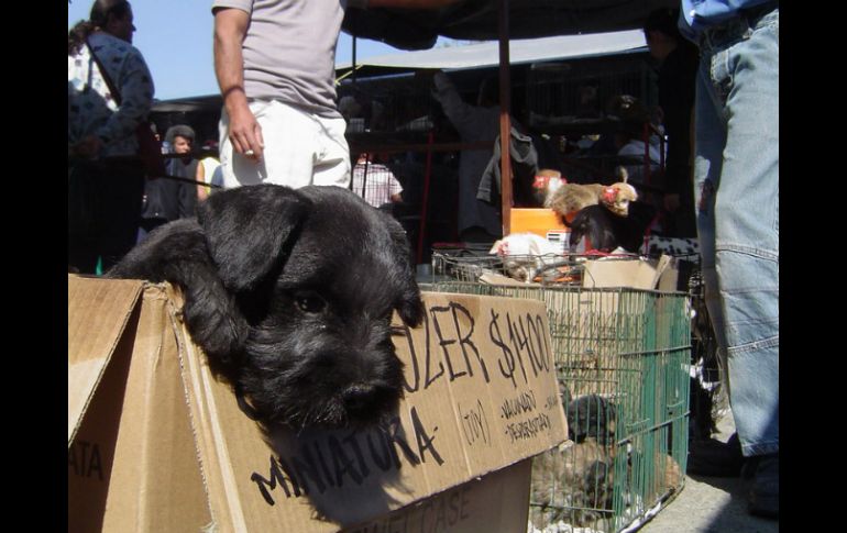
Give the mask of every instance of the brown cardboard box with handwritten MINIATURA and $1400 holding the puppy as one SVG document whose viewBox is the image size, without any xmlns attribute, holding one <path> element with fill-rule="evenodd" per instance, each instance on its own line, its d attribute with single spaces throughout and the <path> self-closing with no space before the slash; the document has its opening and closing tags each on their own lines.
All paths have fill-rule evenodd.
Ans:
<svg viewBox="0 0 847 533">
<path fill-rule="evenodd" d="M 522 530 L 524 459 L 568 434 L 543 303 L 425 303 L 391 427 L 264 434 L 173 287 L 68 276 L 68 531 Z"/>
</svg>

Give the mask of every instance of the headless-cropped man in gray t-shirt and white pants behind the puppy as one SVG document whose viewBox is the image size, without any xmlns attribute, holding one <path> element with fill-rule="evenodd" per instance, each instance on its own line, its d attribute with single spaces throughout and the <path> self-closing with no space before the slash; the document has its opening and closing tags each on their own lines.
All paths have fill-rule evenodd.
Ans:
<svg viewBox="0 0 847 533">
<path fill-rule="evenodd" d="M 344 10 L 455 1 L 215 0 L 223 186 L 348 187 L 350 148 L 334 88 Z"/>
</svg>

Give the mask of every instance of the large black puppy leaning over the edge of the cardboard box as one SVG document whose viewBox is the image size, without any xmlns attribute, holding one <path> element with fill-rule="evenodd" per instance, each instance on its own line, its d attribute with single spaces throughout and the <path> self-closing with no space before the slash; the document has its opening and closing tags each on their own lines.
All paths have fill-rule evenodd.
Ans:
<svg viewBox="0 0 847 533">
<path fill-rule="evenodd" d="M 413 326 L 424 313 L 402 226 L 339 187 L 241 187 L 197 213 L 107 277 L 178 285 L 191 337 L 261 422 L 387 418 L 403 396 L 392 313 Z"/>
</svg>

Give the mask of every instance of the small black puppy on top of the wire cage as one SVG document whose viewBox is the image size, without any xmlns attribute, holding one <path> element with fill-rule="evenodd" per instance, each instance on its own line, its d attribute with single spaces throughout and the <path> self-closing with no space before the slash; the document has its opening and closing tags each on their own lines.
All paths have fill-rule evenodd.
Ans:
<svg viewBox="0 0 847 533">
<path fill-rule="evenodd" d="M 563 222 L 571 229 L 571 253 L 586 235 L 594 249 L 612 252 L 620 246 L 627 252 L 638 253 L 654 216 L 656 208 L 649 203 L 629 202 L 627 216 L 619 216 L 597 204 L 581 209 L 573 222 Z"/>
</svg>

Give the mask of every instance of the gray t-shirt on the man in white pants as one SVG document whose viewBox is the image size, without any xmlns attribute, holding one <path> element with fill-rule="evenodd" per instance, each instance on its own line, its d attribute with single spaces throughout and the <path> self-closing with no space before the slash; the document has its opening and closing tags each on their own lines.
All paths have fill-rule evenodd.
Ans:
<svg viewBox="0 0 847 533">
<path fill-rule="evenodd" d="M 344 9 L 362 0 L 215 0 L 250 14 L 242 44 L 249 99 L 279 100 L 338 118 L 336 44 Z"/>
</svg>

